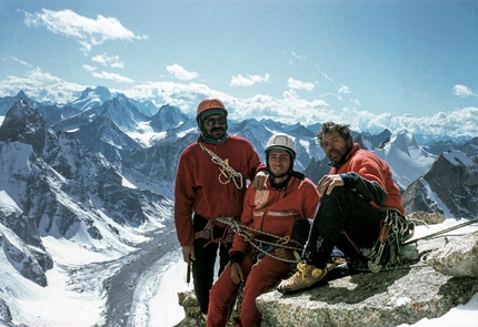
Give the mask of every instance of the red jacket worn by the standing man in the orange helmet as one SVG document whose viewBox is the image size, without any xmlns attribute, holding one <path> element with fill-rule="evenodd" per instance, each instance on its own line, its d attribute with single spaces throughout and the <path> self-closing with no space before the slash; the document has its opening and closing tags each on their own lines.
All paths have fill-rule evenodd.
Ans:
<svg viewBox="0 0 478 327">
<path fill-rule="evenodd" d="M 228 163 L 242 178 L 228 180 L 200 144 Z M 195 242 L 193 212 L 207 219 L 240 216 L 247 181 L 253 180 L 259 164 L 252 144 L 235 135 L 215 145 L 195 142 L 183 150 L 175 185 L 175 224 L 181 246 Z"/>
</svg>

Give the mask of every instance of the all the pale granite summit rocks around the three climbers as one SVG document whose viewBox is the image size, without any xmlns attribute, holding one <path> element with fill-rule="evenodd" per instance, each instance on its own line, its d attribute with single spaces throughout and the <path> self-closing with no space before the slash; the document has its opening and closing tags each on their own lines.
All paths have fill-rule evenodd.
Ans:
<svg viewBox="0 0 478 327">
<path fill-rule="evenodd" d="M 417 249 L 421 260 L 408 267 L 359 272 L 291 295 L 272 289 L 256 302 L 261 327 L 415 324 L 438 318 L 478 293 L 478 232 L 418 241 Z M 187 318 L 178 326 L 195 326 L 191 297 L 179 296 Z"/>
</svg>

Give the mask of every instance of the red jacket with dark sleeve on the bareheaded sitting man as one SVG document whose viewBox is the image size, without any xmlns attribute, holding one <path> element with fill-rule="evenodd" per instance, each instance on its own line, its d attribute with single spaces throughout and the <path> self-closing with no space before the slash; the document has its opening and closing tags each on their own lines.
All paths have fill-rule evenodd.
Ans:
<svg viewBox="0 0 478 327">
<path fill-rule="evenodd" d="M 375 153 L 360 149 L 358 143 L 338 167 L 330 174 L 340 174 L 345 187 L 355 190 L 360 196 L 378 210 L 395 208 L 405 215 L 400 188 L 392 180 L 388 163 Z"/>
</svg>

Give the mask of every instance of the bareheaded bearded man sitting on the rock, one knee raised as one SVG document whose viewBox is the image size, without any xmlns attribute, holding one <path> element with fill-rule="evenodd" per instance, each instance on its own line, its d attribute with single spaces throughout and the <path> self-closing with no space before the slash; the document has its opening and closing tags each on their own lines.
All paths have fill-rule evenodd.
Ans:
<svg viewBox="0 0 478 327">
<path fill-rule="evenodd" d="M 302 253 L 305 263 L 278 286 L 285 294 L 322 280 L 335 246 L 346 257 L 360 257 L 358 249 L 371 248 L 387 211 L 405 214 L 388 164 L 353 144 L 348 125 L 325 123 L 317 139 L 332 168 L 318 183 L 320 204 Z"/>
</svg>

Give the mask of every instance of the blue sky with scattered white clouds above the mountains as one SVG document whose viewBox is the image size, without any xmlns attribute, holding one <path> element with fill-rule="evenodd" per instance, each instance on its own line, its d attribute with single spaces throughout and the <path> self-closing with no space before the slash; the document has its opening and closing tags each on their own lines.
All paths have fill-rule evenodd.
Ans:
<svg viewBox="0 0 478 327">
<path fill-rule="evenodd" d="M 478 134 L 478 1 L 0 0 L 0 96 Z"/>
</svg>

